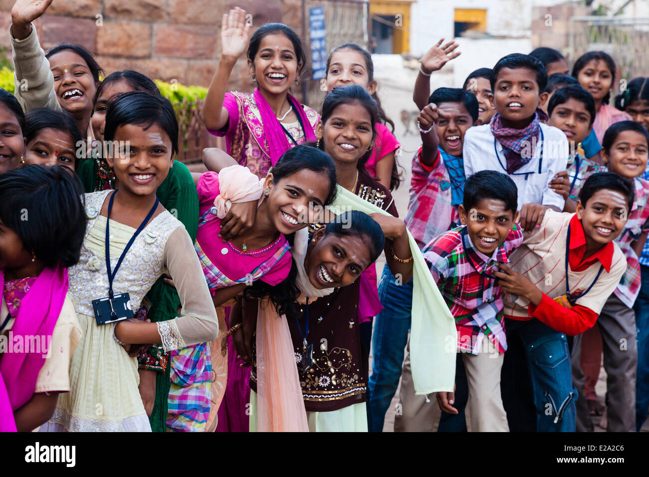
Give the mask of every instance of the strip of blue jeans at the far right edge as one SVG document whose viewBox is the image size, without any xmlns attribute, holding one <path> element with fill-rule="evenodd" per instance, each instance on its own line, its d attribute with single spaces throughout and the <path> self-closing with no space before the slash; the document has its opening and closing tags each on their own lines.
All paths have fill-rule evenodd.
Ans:
<svg viewBox="0 0 649 477">
<path fill-rule="evenodd" d="M 640 265 L 642 285 L 635 300 L 635 332 L 638 341 L 638 367 L 635 377 L 635 430 L 647 420 L 649 414 L 649 267 Z"/>
</svg>

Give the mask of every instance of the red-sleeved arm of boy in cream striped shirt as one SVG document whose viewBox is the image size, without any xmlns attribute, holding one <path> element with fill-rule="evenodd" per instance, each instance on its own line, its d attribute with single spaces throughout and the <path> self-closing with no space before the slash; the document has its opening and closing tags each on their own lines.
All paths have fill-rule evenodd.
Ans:
<svg viewBox="0 0 649 477">
<path fill-rule="evenodd" d="M 575 336 L 592 328 L 598 313 L 582 305 L 572 308 L 561 306 L 539 290 L 527 276 L 520 275 L 508 266 L 498 263 L 502 271 L 494 272 L 502 291 L 519 295 L 530 300 L 528 313 L 530 316 L 547 324 L 559 333 Z"/>
</svg>

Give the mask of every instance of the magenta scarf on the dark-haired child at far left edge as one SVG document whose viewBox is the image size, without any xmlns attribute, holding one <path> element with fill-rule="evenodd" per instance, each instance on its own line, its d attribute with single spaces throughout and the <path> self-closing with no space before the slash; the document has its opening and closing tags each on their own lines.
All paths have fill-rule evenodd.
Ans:
<svg viewBox="0 0 649 477">
<path fill-rule="evenodd" d="M 45 268 L 21 300 L 18 316 L 11 329 L 14 341 L 19 336 L 52 336 L 68 288 L 67 269 Z M 5 287 L 5 274 L 0 270 L 0 290 Z M 23 342 L 25 339 L 23 338 Z M 12 341 L 7 342 L 12 347 Z M 40 350 L 42 351 L 42 350 Z M 0 374 L 6 385 L 8 400 L 12 410 L 17 410 L 27 403 L 36 388 L 36 378 L 45 364 L 43 352 L 14 353 L 5 352 L 0 361 Z M 0 415 L 5 413 L 6 402 L 2 400 L 0 386 Z"/>
</svg>

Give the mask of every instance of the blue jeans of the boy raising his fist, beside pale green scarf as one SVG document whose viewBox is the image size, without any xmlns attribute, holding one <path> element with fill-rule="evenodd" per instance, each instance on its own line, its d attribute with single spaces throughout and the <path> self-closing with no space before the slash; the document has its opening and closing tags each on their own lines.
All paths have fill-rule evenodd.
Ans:
<svg viewBox="0 0 649 477">
<path fill-rule="evenodd" d="M 369 377 L 367 421 L 370 432 L 382 432 L 387 408 L 397 392 L 408 343 L 413 280 L 397 284 L 385 265 L 378 284 L 382 312 L 374 319 L 372 375 Z"/>
</svg>

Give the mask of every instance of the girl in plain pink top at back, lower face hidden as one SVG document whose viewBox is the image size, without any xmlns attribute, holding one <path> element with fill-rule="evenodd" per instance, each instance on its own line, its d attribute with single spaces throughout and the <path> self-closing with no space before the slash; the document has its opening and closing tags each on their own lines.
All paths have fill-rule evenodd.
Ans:
<svg viewBox="0 0 649 477">
<path fill-rule="evenodd" d="M 324 91 L 332 91 L 337 86 L 358 84 L 372 95 L 378 106 L 380 121 L 374 125 L 376 138 L 372 152 L 365 162 L 365 169 L 389 190 L 398 188 L 401 178 L 395 152 L 400 144 L 393 134 L 395 125 L 386 116 L 376 95 L 378 84 L 374 80 L 372 56 L 356 43 L 345 43 L 334 48 L 327 58 L 326 78 L 322 82 Z M 387 125 L 390 125 L 392 130 L 389 130 Z"/>
</svg>

